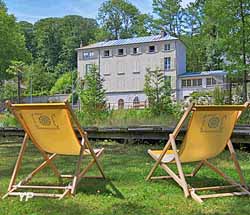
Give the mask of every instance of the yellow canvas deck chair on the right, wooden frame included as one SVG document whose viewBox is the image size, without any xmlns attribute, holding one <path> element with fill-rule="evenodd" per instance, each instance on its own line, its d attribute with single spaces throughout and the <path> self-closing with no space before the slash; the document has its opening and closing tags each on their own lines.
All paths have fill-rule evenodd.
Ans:
<svg viewBox="0 0 250 215">
<path fill-rule="evenodd" d="M 156 161 L 156 163 L 147 176 L 147 180 L 171 178 L 182 187 L 185 197 L 191 196 L 199 203 L 202 203 L 203 199 L 206 198 L 250 195 L 240 165 L 236 159 L 233 145 L 230 141 L 235 123 L 247 106 L 248 103 L 245 103 L 244 105 L 222 106 L 199 106 L 192 104 L 182 116 L 174 132 L 169 135 L 169 140 L 164 149 L 148 150 L 149 155 Z M 187 132 L 180 148 L 177 149 L 175 139 L 189 115 L 191 115 L 191 117 L 187 127 Z M 228 146 L 231 153 L 231 158 L 239 175 L 240 183 L 237 183 L 208 161 L 208 159 L 219 155 L 226 146 Z M 191 174 L 184 175 L 182 164 L 191 162 L 198 162 L 197 167 Z M 172 163 L 177 166 L 178 174 L 167 165 Z M 158 165 L 168 173 L 168 176 L 153 177 L 153 173 Z M 193 188 L 190 184 L 187 184 L 186 176 L 195 176 L 203 165 L 206 165 L 211 170 L 222 176 L 230 185 Z M 237 191 L 206 195 L 197 194 L 197 192 L 201 191 L 215 191 L 227 188 L 235 189 Z"/>
</svg>

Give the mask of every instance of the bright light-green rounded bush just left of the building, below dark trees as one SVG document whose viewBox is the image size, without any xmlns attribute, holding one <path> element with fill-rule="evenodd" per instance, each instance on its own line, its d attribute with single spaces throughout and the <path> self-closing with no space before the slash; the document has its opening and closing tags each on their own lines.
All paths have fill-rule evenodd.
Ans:
<svg viewBox="0 0 250 215">
<path fill-rule="evenodd" d="M 56 93 L 71 93 L 72 73 L 73 73 L 73 83 L 75 83 L 77 77 L 76 71 L 64 73 L 59 79 L 57 79 L 55 85 L 50 90 L 50 94 L 53 95 Z"/>
</svg>

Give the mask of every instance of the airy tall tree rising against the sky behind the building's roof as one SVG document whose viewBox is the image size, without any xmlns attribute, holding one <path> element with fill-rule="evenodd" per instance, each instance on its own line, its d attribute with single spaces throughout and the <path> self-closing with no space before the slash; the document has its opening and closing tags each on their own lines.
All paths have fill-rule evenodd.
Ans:
<svg viewBox="0 0 250 215">
<path fill-rule="evenodd" d="M 98 11 L 98 21 L 104 31 L 108 32 L 108 39 L 129 38 L 138 35 L 137 33 L 145 34 L 147 29 L 144 25 L 147 25 L 148 18 L 149 16 L 141 14 L 127 0 L 107 0 Z"/>
</svg>

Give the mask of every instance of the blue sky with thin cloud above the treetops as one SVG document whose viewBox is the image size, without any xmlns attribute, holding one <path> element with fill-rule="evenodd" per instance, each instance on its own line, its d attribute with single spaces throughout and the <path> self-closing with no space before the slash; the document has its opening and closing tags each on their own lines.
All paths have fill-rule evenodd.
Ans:
<svg viewBox="0 0 250 215">
<path fill-rule="evenodd" d="M 9 13 L 15 14 L 18 21 L 34 23 L 46 17 L 62 17 L 69 14 L 95 18 L 99 6 L 105 0 L 4 0 Z M 194 0 L 182 0 L 183 6 Z M 130 0 L 142 13 L 152 11 L 152 0 Z"/>
</svg>

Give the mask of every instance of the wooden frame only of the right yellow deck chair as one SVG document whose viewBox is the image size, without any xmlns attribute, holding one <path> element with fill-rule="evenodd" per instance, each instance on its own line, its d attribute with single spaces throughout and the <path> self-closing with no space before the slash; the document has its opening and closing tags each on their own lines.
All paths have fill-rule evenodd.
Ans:
<svg viewBox="0 0 250 215">
<path fill-rule="evenodd" d="M 248 103 L 246 102 L 244 104 L 245 108 L 248 107 Z M 176 147 L 176 137 L 178 133 L 180 132 L 181 127 L 183 126 L 185 120 L 189 116 L 189 114 L 193 111 L 195 111 L 195 105 L 192 104 L 189 106 L 189 108 L 186 110 L 184 115 L 182 116 L 181 120 L 177 124 L 174 132 L 169 135 L 169 140 L 167 141 L 167 144 L 165 145 L 164 149 L 162 150 L 162 153 L 160 154 L 159 157 L 156 157 L 152 152 L 149 150 L 149 154 L 151 157 L 156 161 L 153 168 L 149 172 L 146 180 L 154 180 L 154 179 L 173 179 L 177 184 L 180 185 L 180 187 L 183 189 L 185 197 L 191 196 L 194 200 L 196 200 L 199 203 L 203 202 L 203 199 L 207 198 L 215 198 L 215 197 L 224 197 L 224 196 L 240 196 L 240 195 L 250 195 L 250 192 L 248 190 L 248 187 L 246 185 L 245 178 L 242 174 L 239 162 L 236 158 L 236 153 L 233 147 L 233 144 L 231 140 L 228 141 L 227 146 L 229 148 L 231 158 L 234 162 L 234 167 L 237 171 L 237 174 L 240 179 L 240 183 L 236 182 L 229 176 L 227 176 L 225 173 L 223 173 L 220 169 L 218 169 L 216 166 L 214 166 L 212 163 L 210 163 L 208 160 L 202 160 L 198 163 L 198 165 L 195 167 L 195 169 L 192 171 L 191 174 L 184 174 L 183 168 L 182 168 L 182 163 L 179 158 L 178 150 Z M 242 111 L 239 112 L 237 118 L 240 117 Z M 169 168 L 169 166 L 162 162 L 162 159 L 164 158 L 164 155 L 166 152 L 172 148 L 174 152 L 174 160 L 175 164 L 177 166 L 178 174 L 176 174 L 172 169 Z M 156 168 L 160 165 L 160 167 L 168 174 L 167 176 L 158 176 L 158 177 L 153 177 L 153 174 L 156 170 Z M 186 177 L 193 177 L 195 176 L 198 171 L 201 169 L 202 166 L 206 165 L 209 167 L 211 170 L 213 170 L 215 173 L 218 175 L 222 176 L 230 185 L 227 186 L 213 186 L 213 187 L 200 187 L 200 188 L 194 188 L 190 184 L 187 183 Z M 223 190 L 223 189 L 228 189 L 228 188 L 236 188 L 238 191 L 235 192 L 227 192 L 227 193 L 216 193 L 216 194 L 207 194 L 207 195 L 198 195 L 196 191 L 208 191 L 208 190 Z"/>
</svg>

